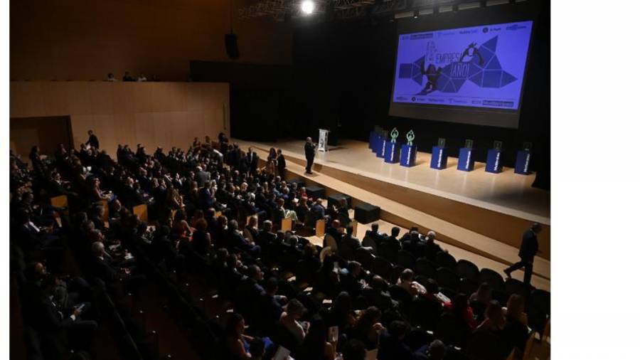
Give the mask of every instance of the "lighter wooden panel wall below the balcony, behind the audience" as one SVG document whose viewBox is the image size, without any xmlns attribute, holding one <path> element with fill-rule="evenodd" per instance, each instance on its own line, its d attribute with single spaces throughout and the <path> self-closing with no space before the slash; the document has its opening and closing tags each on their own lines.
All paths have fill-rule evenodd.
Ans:
<svg viewBox="0 0 640 360">
<path fill-rule="evenodd" d="M 10 86 L 11 117 L 69 115 L 76 147 L 92 129 L 112 156 L 117 144 L 133 149 L 144 144 L 149 153 L 230 132 L 227 83 L 12 81 Z"/>
</svg>

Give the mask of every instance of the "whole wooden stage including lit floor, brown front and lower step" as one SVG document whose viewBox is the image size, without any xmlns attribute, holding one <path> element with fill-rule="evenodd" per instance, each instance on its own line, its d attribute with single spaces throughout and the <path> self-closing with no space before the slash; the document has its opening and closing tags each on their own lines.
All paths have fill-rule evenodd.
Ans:
<svg viewBox="0 0 640 360">
<path fill-rule="evenodd" d="M 326 188 L 327 194 L 352 196 L 354 203 L 380 206 L 380 218 L 403 228 L 434 230 L 438 239 L 498 263 L 519 260 L 523 231 L 532 221 L 543 224 L 540 256 L 534 273 L 550 280 L 550 221 L 547 191 L 530 187 L 535 175 L 501 174 L 456 169 L 449 158 L 447 169 L 430 169 L 430 154 L 419 152 L 417 166 L 387 164 L 375 157 L 366 142 L 346 140 L 329 152 L 316 154 L 314 174 L 304 174 L 304 141 L 246 142 L 233 139 L 244 150 L 253 147 L 265 159 L 271 147 L 282 149 L 287 159 L 286 179 Z"/>
</svg>

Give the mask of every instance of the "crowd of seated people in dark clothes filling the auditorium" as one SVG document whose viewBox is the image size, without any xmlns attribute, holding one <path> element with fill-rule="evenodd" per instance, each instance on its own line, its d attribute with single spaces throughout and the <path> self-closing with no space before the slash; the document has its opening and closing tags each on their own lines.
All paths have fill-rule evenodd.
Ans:
<svg viewBox="0 0 640 360">
<path fill-rule="evenodd" d="M 441 322 L 453 319 L 459 330 L 457 339 L 442 337 L 447 345 L 464 349 L 475 330 L 496 334 L 509 350 L 524 349 L 524 297 L 511 295 L 503 309 L 486 283 L 469 299 L 457 295 L 451 301 L 435 280 L 415 276 L 414 269 L 378 275 L 361 258 L 374 255 L 353 235 L 346 200 L 327 211 L 321 198 L 310 199 L 304 187 L 282 181 L 285 165 L 279 149 L 270 152 L 261 169 L 256 152 L 245 154 L 220 134 L 218 149 L 208 137 L 194 139 L 189 149 L 174 147 L 166 153 L 158 148 L 146 154 L 142 144 L 134 152 L 122 145 L 113 160 L 98 150 L 91 131 L 89 135 L 80 151 L 58 147 L 53 163 L 44 162 L 34 147 L 32 171 L 11 158 L 11 243 L 30 260 L 22 271 L 21 301 L 38 309 L 25 322 L 42 334 L 63 332 L 90 350 L 92 342 L 86 339 L 102 326 L 94 315 L 95 284 L 103 282 L 118 301 L 125 294 L 138 297 L 148 282 L 139 257 L 148 257 L 166 271 L 167 279 L 202 278 L 233 305 L 234 311 L 219 320 L 226 323 L 220 346 L 236 359 L 270 359 L 274 346 L 269 337 L 278 327 L 294 340 L 289 350 L 296 359 L 335 359 L 338 353 L 345 360 L 364 359 L 372 349 L 378 349 L 378 359 L 444 359 L 447 346 L 442 341 L 419 346 L 409 341 L 417 329 L 412 304 L 425 300 L 444 310 Z M 33 191 L 34 182 L 47 197 Z M 68 196 L 68 208 L 34 208 L 57 195 Z M 150 226 L 131 211 L 143 203 Z M 103 217 L 107 209 L 109 216 Z M 58 218 L 67 221 L 65 211 L 73 215 L 71 235 L 56 223 Z M 323 251 L 320 257 L 321 248 L 300 233 L 276 231 L 278 218 L 307 216 L 330 224 L 326 234 L 336 240 L 338 252 Z M 395 254 L 404 249 L 434 260 L 442 251 L 433 231 L 423 238 L 413 228 L 400 238 L 400 228 L 385 235 L 374 223 L 366 236 Z M 43 261 L 55 267 L 71 238 L 82 277 L 50 274 Z M 409 296 L 396 299 L 397 287 Z M 437 322 L 430 328 L 437 329 Z M 251 337 L 245 334 L 247 324 Z M 335 339 L 329 337 L 331 327 L 338 329 Z"/>
</svg>

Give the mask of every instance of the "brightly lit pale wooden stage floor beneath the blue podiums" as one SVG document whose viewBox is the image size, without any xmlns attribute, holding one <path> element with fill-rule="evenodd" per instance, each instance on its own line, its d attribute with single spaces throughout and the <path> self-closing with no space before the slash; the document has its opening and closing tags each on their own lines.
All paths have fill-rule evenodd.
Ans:
<svg viewBox="0 0 640 360">
<path fill-rule="evenodd" d="M 304 158 L 304 141 L 281 140 L 260 142 L 262 147 L 282 149 L 285 155 Z M 315 163 L 351 171 L 361 176 L 405 186 L 428 194 L 470 203 L 511 216 L 550 224 L 550 193 L 531 187 L 535 174 L 514 174 L 504 168 L 500 174 L 484 171 L 484 163 L 476 162 L 474 171 L 458 171 L 457 158 L 449 156 L 447 169 L 429 167 L 431 154 L 418 152 L 416 166 L 407 168 L 387 164 L 375 157 L 366 142 L 342 140 L 329 152 L 318 152 Z"/>
</svg>

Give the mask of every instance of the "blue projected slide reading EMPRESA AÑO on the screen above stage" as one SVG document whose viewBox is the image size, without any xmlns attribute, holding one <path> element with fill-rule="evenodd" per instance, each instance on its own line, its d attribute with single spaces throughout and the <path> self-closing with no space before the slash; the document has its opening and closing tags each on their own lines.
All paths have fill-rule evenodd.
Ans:
<svg viewBox="0 0 640 360">
<path fill-rule="evenodd" d="M 518 110 L 532 26 L 400 34 L 393 102 Z"/>
</svg>

